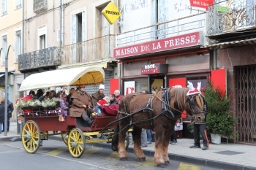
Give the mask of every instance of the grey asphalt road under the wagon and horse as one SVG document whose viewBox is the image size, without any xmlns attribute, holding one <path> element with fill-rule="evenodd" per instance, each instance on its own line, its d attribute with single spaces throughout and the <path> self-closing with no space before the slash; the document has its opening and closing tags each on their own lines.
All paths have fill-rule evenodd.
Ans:
<svg viewBox="0 0 256 170">
<path fill-rule="evenodd" d="M 97 147 L 95 144 L 86 144 L 86 150 L 80 158 L 72 158 L 68 147 L 59 140 L 43 141 L 34 154 L 23 149 L 20 141 L 0 142 L 0 169 L 19 170 L 51 170 L 51 169 L 178 169 L 178 170 L 213 170 L 210 167 L 197 166 L 178 161 L 170 161 L 166 168 L 156 166 L 152 157 L 146 157 L 146 162 L 137 161 L 135 154 L 128 153 L 129 161 L 119 161 L 118 152 L 110 147 Z"/>
</svg>

